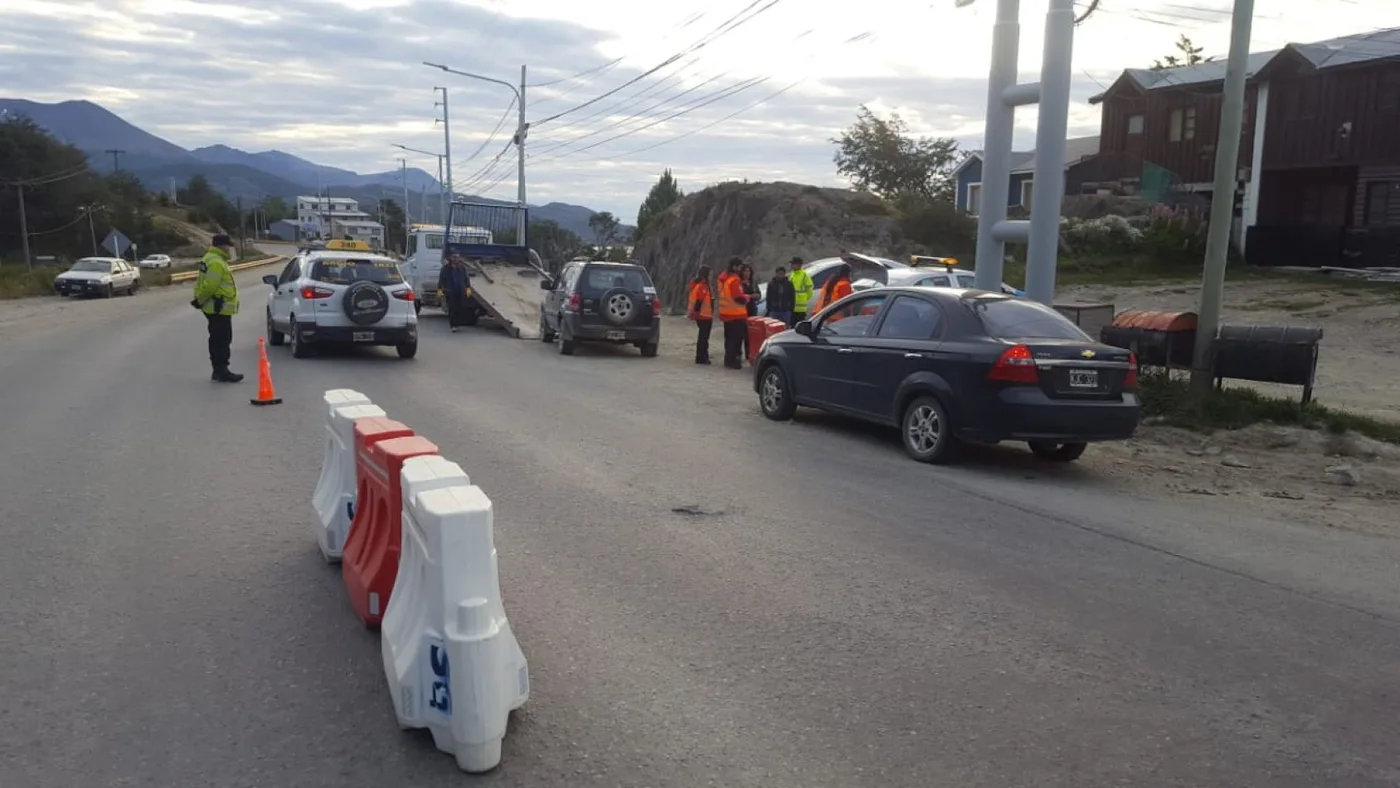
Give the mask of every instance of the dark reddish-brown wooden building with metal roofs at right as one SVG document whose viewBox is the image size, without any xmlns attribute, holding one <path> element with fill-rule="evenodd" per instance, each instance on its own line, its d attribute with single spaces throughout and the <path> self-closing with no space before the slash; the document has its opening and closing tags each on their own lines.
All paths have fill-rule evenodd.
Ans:
<svg viewBox="0 0 1400 788">
<path fill-rule="evenodd" d="M 1130 69 L 1102 102 L 1099 188 L 1211 196 L 1225 63 Z M 1400 266 L 1400 28 L 1250 56 L 1236 241 L 1260 265 Z"/>
</svg>

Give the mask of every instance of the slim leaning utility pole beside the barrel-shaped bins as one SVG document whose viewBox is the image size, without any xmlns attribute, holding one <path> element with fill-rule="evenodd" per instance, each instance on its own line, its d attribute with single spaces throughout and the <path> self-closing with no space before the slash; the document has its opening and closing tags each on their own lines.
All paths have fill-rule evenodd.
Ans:
<svg viewBox="0 0 1400 788">
<path fill-rule="evenodd" d="M 1215 185 L 1211 190 L 1211 224 L 1205 235 L 1205 270 L 1201 276 L 1201 302 L 1196 311 L 1196 353 L 1191 356 L 1191 397 L 1197 407 L 1204 407 L 1205 397 L 1211 393 L 1211 349 L 1219 332 L 1225 293 L 1225 260 L 1229 255 L 1231 220 L 1235 216 L 1239 136 L 1245 127 L 1245 77 L 1253 20 L 1254 0 L 1235 0 L 1221 130 L 1215 141 Z"/>
</svg>

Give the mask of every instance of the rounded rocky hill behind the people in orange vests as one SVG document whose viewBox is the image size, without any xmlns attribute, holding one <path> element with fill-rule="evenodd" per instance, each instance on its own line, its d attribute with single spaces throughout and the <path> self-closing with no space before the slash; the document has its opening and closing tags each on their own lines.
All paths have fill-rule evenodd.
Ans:
<svg viewBox="0 0 1400 788">
<path fill-rule="evenodd" d="M 647 228 L 634 256 L 651 272 L 666 307 L 676 309 L 704 263 L 718 273 L 738 256 L 767 279 L 792 256 L 815 260 L 840 252 L 896 256 L 918 251 L 878 197 L 777 182 L 721 183 L 687 195 Z"/>
</svg>

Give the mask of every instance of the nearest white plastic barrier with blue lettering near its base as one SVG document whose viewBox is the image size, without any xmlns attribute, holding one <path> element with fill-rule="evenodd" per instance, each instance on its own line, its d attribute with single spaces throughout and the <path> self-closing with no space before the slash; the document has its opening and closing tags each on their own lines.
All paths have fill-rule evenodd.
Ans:
<svg viewBox="0 0 1400 788">
<path fill-rule="evenodd" d="M 463 771 L 501 763 L 529 666 L 505 620 L 491 500 L 441 456 L 403 463 L 403 550 L 381 624 L 399 726 L 427 728 Z"/>
</svg>

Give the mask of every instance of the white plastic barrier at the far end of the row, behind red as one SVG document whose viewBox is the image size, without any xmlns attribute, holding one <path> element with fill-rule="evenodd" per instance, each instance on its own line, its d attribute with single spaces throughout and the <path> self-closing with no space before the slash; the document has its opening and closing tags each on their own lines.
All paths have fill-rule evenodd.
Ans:
<svg viewBox="0 0 1400 788">
<path fill-rule="evenodd" d="M 336 396 L 332 396 L 336 395 Z M 361 402 L 335 402 L 358 396 Z M 316 544 L 326 561 L 340 560 L 350 533 L 356 493 L 354 423 L 371 416 L 385 416 L 384 409 L 370 404 L 368 397 L 349 389 L 325 393 L 326 449 L 321 460 L 321 480 L 311 494 L 311 508 L 316 511 Z"/>
</svg>

